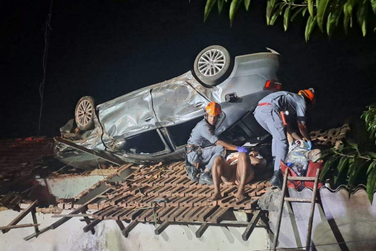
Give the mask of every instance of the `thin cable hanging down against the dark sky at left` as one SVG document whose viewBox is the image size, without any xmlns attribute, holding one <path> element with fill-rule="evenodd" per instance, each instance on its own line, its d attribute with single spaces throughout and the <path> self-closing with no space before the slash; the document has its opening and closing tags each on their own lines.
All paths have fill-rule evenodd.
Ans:
<svg viewBox="0 0 376 251">
<path fill-rule="evenodd" d="M 47 19 L 45 21 L 44 27 L 43 27 L 43 37 L 44 37 L 44 53 L 43 53 L 43 76 L 42 76 L 42 82 L 39 85 L 39 96 L 41 96 L 41 108 L 39 110 L 39 123 L 38 123 L 38 136 L 41 132 L 41 119 L 42 119 L 42 108 L 43 108 L 43 93 L 44 93 L 44 84 L 46 79 L 46 67 L 47 67 L 47 52 L 48 52 L 48 43 L 49 43 L 49 37 L 50 37 L 50 22 L 51 22 L 51 16 L 52 16 L 52 0 L 50 3 L 50 13 L 47 15 Z"/>
</svg>

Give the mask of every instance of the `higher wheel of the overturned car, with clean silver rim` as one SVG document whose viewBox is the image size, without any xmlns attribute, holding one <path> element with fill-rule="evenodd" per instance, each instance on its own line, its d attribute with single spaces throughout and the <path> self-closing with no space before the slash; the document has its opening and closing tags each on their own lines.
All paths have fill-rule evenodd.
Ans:
<svg viewBox="0 0 376 251">
<path fill-rule="evenodd" d="M 226 79 L 233 66 L 230 53 L 223 46 L 213 45 L 203 49 L 194 61 L 193 70 L 197 78 L 209 87 Z"/>
</svg>

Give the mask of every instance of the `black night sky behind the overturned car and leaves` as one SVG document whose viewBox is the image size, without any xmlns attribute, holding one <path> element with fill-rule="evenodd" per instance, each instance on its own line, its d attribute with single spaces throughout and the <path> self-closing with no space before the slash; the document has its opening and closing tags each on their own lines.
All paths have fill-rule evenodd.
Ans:
<svg viewBox="0 0 376 251">
<path fill-rule="evenodd" d="M 205 2 L 54 1 L 40 135 L 59 135 L 81 96 L 94 96 L 98 104 L 173 78 L 192 69 L 197 53 L 213 44 L 232 55 L 265 52 L 265 47 L 279 52 L 285 89 L 315 88 L 316 125 L 359 117 L 375 102 L 373 28 L 365 38 L 358 27 L 346 36 L 340 20 L 331 40 L 316 27 L 306 44 L 301 15 L 284 32 L 281 18 L 266 25 L 266 1 L 254 1 L 248 12 L 241 6 L 230 27 L 229 5 L 203 23 Z M 38 134 L 49 6 L 50 1 L 2 5 L 1 138 Z"/>
</svg>

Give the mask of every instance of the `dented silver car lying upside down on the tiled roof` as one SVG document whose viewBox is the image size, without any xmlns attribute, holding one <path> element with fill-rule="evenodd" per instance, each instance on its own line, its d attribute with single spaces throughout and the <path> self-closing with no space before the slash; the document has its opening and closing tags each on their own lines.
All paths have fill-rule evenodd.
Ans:
<svg viewBox="0 0 376 251">
<path fill-rule="evenodd" d="M 255 53 L 231 58 L 224 47 L 202 50 L 194 70 L 96 105 L 90 96 L 77 103 L 75 121 L 61 128 L 63 138 L 85 149 L 125 162 L 178 160 L 191 130 L 210 101 L 223 113 L 215 134 L 241 144 L 267 134 L 253 117 L 258 101 L 280 90 L 279 54 Z M 74 126 L 74 122 L 77 128 Z M 72 166 L 97 166 L 99 159 L 57 143 L 56 157 Z"/>
</svg>

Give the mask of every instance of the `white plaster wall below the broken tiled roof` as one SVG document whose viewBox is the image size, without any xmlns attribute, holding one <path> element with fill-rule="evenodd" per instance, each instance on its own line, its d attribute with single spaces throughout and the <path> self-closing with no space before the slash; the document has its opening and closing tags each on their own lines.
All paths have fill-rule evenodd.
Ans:
<svg viewBox="0 0 376 251">
<path fill-rule="evenodd" d="M 70 210 L 63 211 L 63 214 Z M 6 210 L 0 212 L 0 225 L 7 225 L 18 212 Z M 47 227 L 59 218 L 52 214 L 37 213 L 39 229 Z M 152 224 L 138 224 L 125 238 L 113 220 L 100 222 L 94 229 L 96 233 L 83 233 L 86 223 L 82 218 L 72 218 L 55 230 L 25 241 L 23 237 L 33 233 L 34 228 L 19 228 L 6 234 L 0 233 L 1 251 L 172 251 L 172 250 L 236 250 L 252 251 L 268 249 L 268 234 L 265 228 L 256 227 L 247 241 L 241 239 L 245 227 L 210 226 L 201 238 L 195 232 L 199 225 L 170 225 L 159 236 L 154 234 Z M 18 224 L 32 223 L 31 214 Z M 127 223 L 124 222 L 124 226 Z"/>
</svg>

